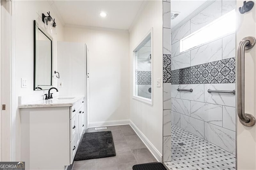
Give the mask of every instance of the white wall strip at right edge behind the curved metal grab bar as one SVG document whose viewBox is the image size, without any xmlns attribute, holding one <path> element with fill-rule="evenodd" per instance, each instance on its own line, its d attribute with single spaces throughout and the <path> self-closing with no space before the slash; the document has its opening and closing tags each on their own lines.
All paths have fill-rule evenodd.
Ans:
<svg viewBox="0 0 256 170">
<path fill-rule="evenodd" d="M 255 1 L 254 1 L 255 3 Z M 256 4 L 249 12 L 240 14 L 239 7 L 243 1 L 237 1 L 237 27 L 236 47 L 239 42 L 247 37 L 256 37 Z M 238 68 L 238 53 L 236 53 L 236 69 Z M 245 51 L 245 113 L 256 117 L 256 45 Z M 237 72 L 236 72 L 237 75 Z M 238 92 L 238 77 L 236 77 L 236 92 Z M 239 95 L 237 94 L 237 99 Z M 236 108 L 238 107 L 238 103 Z M 237 117 L 237 169 L 256 170 L 256 125 L 246 127 L 242 125 Z"/>
</svg>

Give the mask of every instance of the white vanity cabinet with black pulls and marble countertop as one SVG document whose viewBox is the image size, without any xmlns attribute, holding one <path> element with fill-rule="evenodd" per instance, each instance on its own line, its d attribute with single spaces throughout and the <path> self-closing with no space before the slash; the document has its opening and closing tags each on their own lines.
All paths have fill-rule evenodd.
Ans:
<svg viewBox="0 0 256 170">
<path fill-rule="evenodd" d="M 57 100 L 20 105 L 21 160 L 26 169 L 64 169 L 73 163 L 86 127 L 84 97 Z"/>
</svg>

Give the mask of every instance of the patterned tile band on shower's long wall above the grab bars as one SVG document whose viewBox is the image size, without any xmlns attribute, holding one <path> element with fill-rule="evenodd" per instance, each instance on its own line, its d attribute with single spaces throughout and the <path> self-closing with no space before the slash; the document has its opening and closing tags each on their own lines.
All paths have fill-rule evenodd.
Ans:
<svg viewBox="0 0 256 170">
<path fill-rule="evenodd" d="M 167 75 L 164 71 L 164 81 L 169 81 Z M 235 83 L 235 57 L 173 70 L 170 79 L 172 84 Z"/>
</svg>

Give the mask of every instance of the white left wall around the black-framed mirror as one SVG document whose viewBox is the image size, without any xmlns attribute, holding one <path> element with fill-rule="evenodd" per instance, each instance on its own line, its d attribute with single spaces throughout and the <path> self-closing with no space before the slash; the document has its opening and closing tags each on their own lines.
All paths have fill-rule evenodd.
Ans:
<svg viewBox="0 0 256 170">
<path fill-rule="evenodd" d="M 12 113 L 12 159 L 20 161 L 20 116 L 18 96 L 42 93 L 33 91 L 34 81 L 34 20 L 43 26 L 42 13 L 50 14 L 58 25 L 57 35 L 53 37 L 54 69 L 57 67 L 57 41 L 63 40 L 62 25 L 48 1 L 15 1 L 14 2 L 14 106 Z M 53 71 L 54 71 L 53 69 Z M 21 88 L 21 78 L 26 78 L 27 88 Z M 56 79 L 54 85 L 56 86 Z M 43 94 L 43 93 L 42 93 Z M 15 146 L 16 145 L 16 146 Z"/>
</svg>

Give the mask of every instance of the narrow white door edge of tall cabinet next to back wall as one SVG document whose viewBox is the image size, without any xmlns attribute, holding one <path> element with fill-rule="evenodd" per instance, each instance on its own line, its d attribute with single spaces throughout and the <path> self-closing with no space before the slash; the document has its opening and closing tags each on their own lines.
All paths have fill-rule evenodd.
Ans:
<svg viewBox="0 0 256 170">
<path fill-rule="evenodd" d="M 89 127 L 89 49 L 88 49 L 88 45 L 86 45 L 86 128 Z"/>
</svg>

